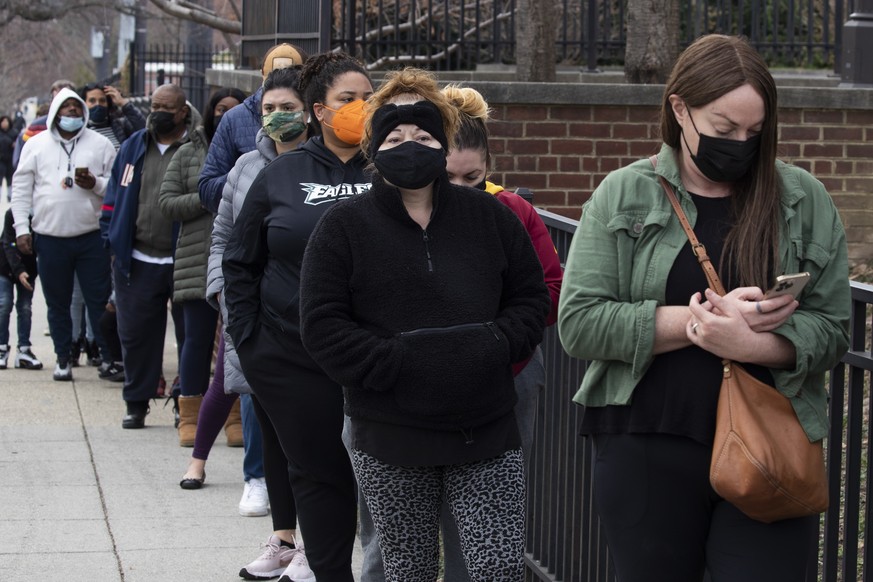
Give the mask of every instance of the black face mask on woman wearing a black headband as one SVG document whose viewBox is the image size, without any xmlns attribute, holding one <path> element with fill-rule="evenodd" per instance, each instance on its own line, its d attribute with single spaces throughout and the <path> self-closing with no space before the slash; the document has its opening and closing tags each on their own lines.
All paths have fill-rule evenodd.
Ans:
<svg viewBox="0 0 873 582">
<path fill-rule="evenodd" d="M 390 150 L 380 150 L 373 164 L 382 177 L 398 188 L 424 188 L 446 169 L 446 152 L 414 141 L 406 141 Z"/>
</svg>

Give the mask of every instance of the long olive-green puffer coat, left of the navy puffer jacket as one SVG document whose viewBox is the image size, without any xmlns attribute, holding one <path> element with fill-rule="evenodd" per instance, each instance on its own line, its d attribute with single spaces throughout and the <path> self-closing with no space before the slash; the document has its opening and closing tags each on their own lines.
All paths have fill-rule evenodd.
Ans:
<svg viewBox="0 0 873 582">
<path fill-rule="evenodd" d="M 173 155 L 161 183 L 161 212 L 180 223 L 173 261 L 173 301 L 206 298 L 206 266 L 212 236 L 212 213 L 200 205 L 197 180 L 206 159 L 202 127 Z"/>
</svg>

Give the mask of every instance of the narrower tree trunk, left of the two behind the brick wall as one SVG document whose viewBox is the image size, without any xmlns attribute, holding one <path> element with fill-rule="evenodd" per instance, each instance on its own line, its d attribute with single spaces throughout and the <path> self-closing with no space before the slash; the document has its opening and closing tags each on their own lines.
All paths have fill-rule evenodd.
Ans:
<svg viewBox="0 0 873 582">
<path fill-rule="evenodd" d="M 519 81 L 554 82 L 556 0 L 518 0 L 515 62 Z"/>
</svg>

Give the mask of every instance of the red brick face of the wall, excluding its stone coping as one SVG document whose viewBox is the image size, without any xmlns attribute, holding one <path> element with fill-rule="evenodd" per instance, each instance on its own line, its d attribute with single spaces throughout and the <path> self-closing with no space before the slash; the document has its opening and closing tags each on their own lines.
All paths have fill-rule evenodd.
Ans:
<svg viewBox="0 0 873 582">
<path fill-rule="evenodd" d="M 535 206 L 570 218 L 607 173 L 660 147 L 654 105 L 489 100 L 493 181 L 527 187 Z M 850 261 L 873 263 L 873 107 L 814 105 L 780 109 L 779 158 L 822 181 L 846 226 Z"/>
</svg>

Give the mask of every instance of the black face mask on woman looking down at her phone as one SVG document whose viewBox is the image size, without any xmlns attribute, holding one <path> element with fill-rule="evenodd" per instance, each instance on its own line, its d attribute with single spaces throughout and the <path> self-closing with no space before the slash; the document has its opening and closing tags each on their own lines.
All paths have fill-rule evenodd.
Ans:
<svg viewBox="0 0 873 582">
<path fill-rule="evenodd" d="M 760 135 L 752 136 L 746 141 L 711 137 L 697 130 L 690 113 L 688 118 L 700 138 L 697 142 L 697 155 L 691 154 L 691 159 L 704 176 L 713 182 L 735 182 L 748 173 L 758 159 Z M 682 139 L 685 139 L 684 133 Z M 687 140 L 685 147 L 688 147 Z M 691 151 L 690 147 L 688 151 Z"/>
</svg>

